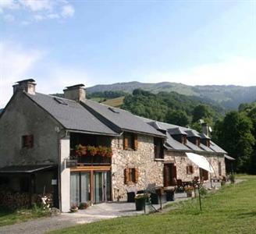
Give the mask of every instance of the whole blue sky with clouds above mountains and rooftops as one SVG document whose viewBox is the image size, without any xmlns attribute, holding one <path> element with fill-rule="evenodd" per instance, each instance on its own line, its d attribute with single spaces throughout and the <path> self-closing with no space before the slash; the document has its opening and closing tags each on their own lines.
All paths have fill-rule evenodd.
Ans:
<svg viewBox="0 0 256 234">
<path fill-rule="evenodd" d="M 256 85 L 255 45 L 254 1 L 0 0 L 0 107 L 27 78 Z"/>
</svg>

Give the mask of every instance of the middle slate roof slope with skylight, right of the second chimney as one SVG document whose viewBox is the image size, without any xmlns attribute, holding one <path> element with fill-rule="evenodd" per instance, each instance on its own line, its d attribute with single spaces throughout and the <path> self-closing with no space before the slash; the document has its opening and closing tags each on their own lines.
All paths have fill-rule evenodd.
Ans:
<svg viewBox="0 0 256 234">
<path fill-rule="evenodd" d="M 101 119 L 107 119 L 119 129 L 128 132 L 144 133 L 148 135 L 153 135 L 156 137 L 165 137 L 164 134 L 160 133 L 154 127 L 149 126 L 137 115 L 133 115 L 120 108 L 112 108 L 108 105 L 100 104 L 96 101 L 86 100 L 86 108 L 91 109 L 101 115 Z"/>
</svg>

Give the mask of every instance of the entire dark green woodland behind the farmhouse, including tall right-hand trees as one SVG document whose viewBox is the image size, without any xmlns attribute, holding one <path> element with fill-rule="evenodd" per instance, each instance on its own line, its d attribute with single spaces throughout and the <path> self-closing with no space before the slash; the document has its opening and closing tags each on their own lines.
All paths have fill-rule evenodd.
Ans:
<svg viewBox="0 0 256 234">
<path fill-rule="evenodd" d="M 123 91 L 105 91 L 91 97 L 115 98 Z M 256 174 L 256 102 L 241 104 L 239 109 L 224 112 L 218 105 L 211 105 L 198 97 L 188 97 L 176 92 L 159 92 L 136 89 L 125 94 L 121 108 L 148 119 L 189 126 L 201 131 L 200 121 L 212 127 L 212 139 L 236 158 L 236 172 Z"/>
</svg>

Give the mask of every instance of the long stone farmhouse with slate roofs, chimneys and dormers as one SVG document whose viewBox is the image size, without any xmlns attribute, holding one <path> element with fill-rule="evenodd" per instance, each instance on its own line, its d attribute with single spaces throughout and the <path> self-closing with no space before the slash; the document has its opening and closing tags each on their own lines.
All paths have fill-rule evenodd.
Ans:
<svg viewBox="0 0 256 234">
<path fill-rule="evenodd" d="M 126 200 L 133 187 L 226 176 L 226 151 L 207 131 L 87 100 L 83 84 L 66 87 L 64 98 L 35 87 L 32 79 L 17 82 L 0 115 L 0 183 L 13 191 L 52 193 L 55 207 L 66 212 L 89 200 Z M 214 173 L 190 161 L 188 152 L 207 158 Z"/>
</svg>

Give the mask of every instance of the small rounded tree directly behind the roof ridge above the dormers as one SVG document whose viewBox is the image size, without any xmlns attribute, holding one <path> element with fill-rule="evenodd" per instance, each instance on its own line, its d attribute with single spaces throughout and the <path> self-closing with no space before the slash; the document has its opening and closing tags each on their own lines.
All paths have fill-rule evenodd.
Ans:
<svg viewBox="0 0 256 234">
<path fill-rule="evenodd" d="M 187 116 L 187 113 L 181 110 L 174 111 L 172 109 L 169 109 L 165 119 L 166 122 L 179 126 L 187 126 L 189 124 L 189 118 Z"/>
</svg>

